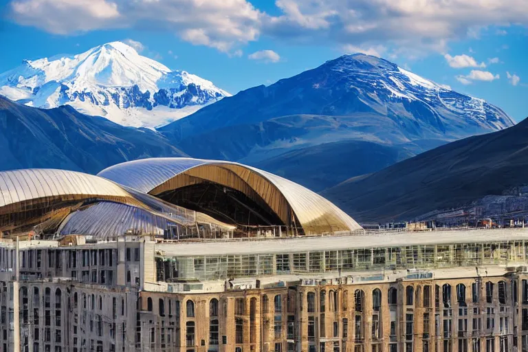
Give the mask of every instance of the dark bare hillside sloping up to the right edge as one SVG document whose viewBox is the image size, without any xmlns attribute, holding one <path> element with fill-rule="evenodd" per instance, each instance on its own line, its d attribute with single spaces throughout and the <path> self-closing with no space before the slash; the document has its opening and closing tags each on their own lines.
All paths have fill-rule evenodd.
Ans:
<svg viewBox="0 0 528 352">
<path fill-rule="evenodd" d="M 465 138 L 322 192 L 354 219 L 412 219 L 528 184 L 528 120 Z"/>
</svg>

